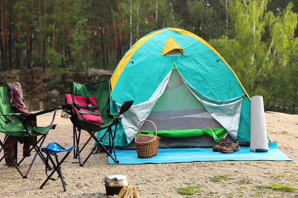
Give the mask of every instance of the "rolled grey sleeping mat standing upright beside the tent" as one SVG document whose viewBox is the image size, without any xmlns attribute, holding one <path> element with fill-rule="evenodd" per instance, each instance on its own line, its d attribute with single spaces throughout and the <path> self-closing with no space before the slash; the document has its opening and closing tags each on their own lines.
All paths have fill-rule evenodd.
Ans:
<svg viewBox="0 0 298 198">
<path fill-rule="evenodd" d="M 263 97 L 254 96 L 250 102 L 250 151 L 268 150 Z"/>
</svg>

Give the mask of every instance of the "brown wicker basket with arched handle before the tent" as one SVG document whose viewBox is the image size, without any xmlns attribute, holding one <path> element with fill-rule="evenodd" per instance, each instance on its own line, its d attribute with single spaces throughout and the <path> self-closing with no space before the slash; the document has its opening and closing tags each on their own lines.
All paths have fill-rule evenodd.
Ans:
<svg viewBox="0 0 298 198">
<path fill-rule="evenodd" d="M 155 128 L 155 136 L 141 134 L 142 122 L 151 122 Z M 157 154 L 159 139 L 155 124 L 150 120 L 143 120 L 139 125 L 139 135 L 135 139 L 137 153 L 139 158 L 150 158 Z"/>
</svg>

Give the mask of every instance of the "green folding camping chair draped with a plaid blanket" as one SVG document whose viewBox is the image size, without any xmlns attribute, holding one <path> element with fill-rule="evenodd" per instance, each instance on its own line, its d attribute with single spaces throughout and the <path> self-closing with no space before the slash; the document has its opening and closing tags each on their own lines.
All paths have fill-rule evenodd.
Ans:
<svg viewBox="0 0 298 198">
<path fill-rule="evenodd" d="M 2 149 L 5 152 L 5 154 L 0 158 L 0 162 L 4 159 L 5 155 L 7 155 L 23 178 L 27 178 L 27 175 L 28 175 L 37 155 L 40 156 L 40 158 L 42 159 L 42 161 L 44 163 L 46 163 L 45 157 L 41 153 L 40 148 L 42 147 L 42 145 L 48 135 L 48 132 L 51 129 L 55 129 L 55 127 L 56 127 L 56 124 L 53 125 L 53 122 L 55 119 L 56 111 L 59 108 L 60 107 L 43 110 L 43 111 L 40 111 L 40 112 L 37 112 L 34 114 L 30 114 L 28 116 L 25 116 L 21 113 L 16 113 L 15 108 L 10 106 L 8 86 L 7 85 L 1 86 L 0 87 L 0 133 L 7 134 L 9 136 L 15 136 L 15 137 L 17 137 L 17 139 L 16 139 L 16 141 L 14 141 L 11 144 L 11 146 L 8 149 L 5 148 L 5 146 L 4 146 L 5 142 L 8 140 L 8 136 L 4 140 L 4 142 L 2 142 L 0 140 L 0 146 L 1 146 L 0 152 L 2 151 Z M 52 112 L 52 111 L 55 111 L 54 115 L 53 115 L 53 119 L 52 119 L 50 125 L 47 127 L 37 127 L 37 126 L 32 126 L 32 125 L 25 123 L 25 119 L 29 118 L 30 116 L 38 116 L 38 115 L 42 115 L 42 114 Z M 40 136 L 40 138 L 37 141 L 35 141 L 33 138 L 34 136 Z M 11 152 L 13 150 L 13 148 L 17 147 L 17 143 L 23 137 L 28 137 L 29 144 L 32 147 L 27 152 L 27 155 L 23 156 L 23 158 L 18 162 L 17 149 L 15 150 L 16 154 L 15 154 L 14 159 L 9 152 Z M 29 166 L 26 174 L 24 175 L 18 166 L 20 165 L 20 163 L 23 162 L 23 160 L 30 154 L 30 152 L 33 149 L 36 151 L 36 154 L 34 155 L 32 162 L 30 163 L 30 166 Z"/>
</svg>

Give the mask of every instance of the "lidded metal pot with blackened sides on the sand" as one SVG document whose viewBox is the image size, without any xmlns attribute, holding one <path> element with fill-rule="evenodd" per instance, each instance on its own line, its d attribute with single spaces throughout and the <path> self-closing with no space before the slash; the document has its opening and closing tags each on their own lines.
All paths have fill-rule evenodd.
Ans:
<svg viewBox="0 0 298 198">
<path fill-rule="evenodd" d="M 125 175 L 109 175 L 104 178 L 107 196 L 118 195 L 124 186 L 128 186 Z"/>
</svg>

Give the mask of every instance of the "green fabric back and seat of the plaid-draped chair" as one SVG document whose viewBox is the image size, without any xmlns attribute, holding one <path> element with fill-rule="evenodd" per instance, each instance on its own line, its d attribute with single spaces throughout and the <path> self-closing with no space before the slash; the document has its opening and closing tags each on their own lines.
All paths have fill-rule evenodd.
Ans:
<svg viewBox="0 0 298 198">
<path fill-rule="evenodd" d="M 15 108 L 10 106 L 8 86 L 0 86 L 0 114 L 6 115 L 10 113 L 15 113 Z M 0 132 L 18 132 L 22 130 L 24 130 L 24 127 L 18 117 L 0 116 Z"/>
</svg>

